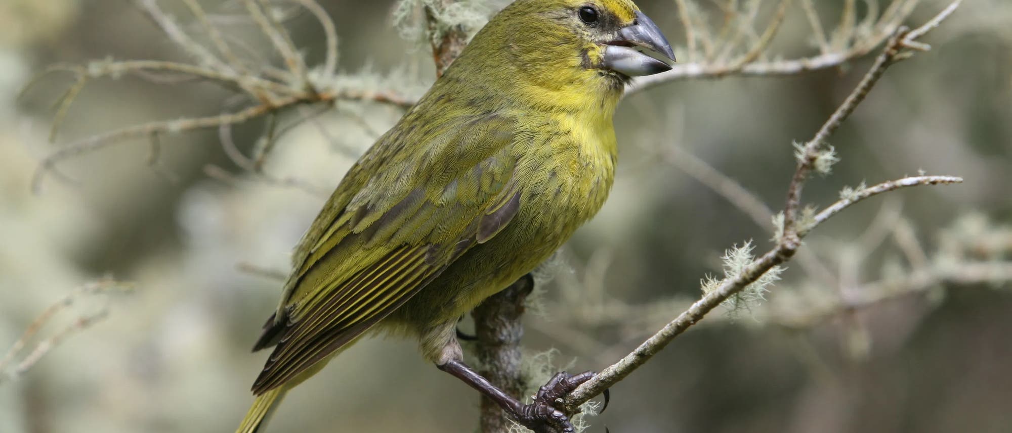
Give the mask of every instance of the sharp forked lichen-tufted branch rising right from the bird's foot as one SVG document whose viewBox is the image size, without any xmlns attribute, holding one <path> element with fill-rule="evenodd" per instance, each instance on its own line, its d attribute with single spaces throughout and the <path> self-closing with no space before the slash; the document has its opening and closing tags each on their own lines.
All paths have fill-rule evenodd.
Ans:
<svg viewBox="0 0 1012 433">
<path fill-rule="evenodd" d="M 900 27 L 890 39 L 881 55 L 876 59 L 874 65 L 865 74 L 864 79 L 861 80 L 836 112 L 823 124 L 815 137 L 798 150 L 797 168 L 787 187 L 787 200 L 783 210 L 783 232 L 782 236 L 777 238 L 776 246 L 745 266 L 733 277 L 721 281 L 707 294 L 647 339 L 632 352 L 604 368 L 594 378 L 581 384 L 576 391 L 567 396 L 565 403 L 567 412 L 575 413 L 581 404 L 600 395 L 635 371 L 650 360 L 651 357 L 660 352 L 675 337 L 681 335 L 689 327 L 702 320 L 714 308 L 742 290 L 745 290 L 750 284 L 759 280 L 760 277 L 770 272 L 777 265 L 790 260 L 797 252 L 797 249 L 800 248 L 802 239 L 807 234 L 846 207 L 873 195 L 908 186 L 949 184 L 962 181 L 961 178 L 953 176 L 907 177 L 862 188 L 858 191 L 852 191 L 847 197 L 833 203 L 826 209 L 815 214 L 812 219 L 799 221 L 796 216 L 796 209 L 800 202 L 802 187 L 808 180 L 809 174 L 816 170 L 828 171 L 830 160 L 833 159 L 831 153 L 824 149 L 825 141 L 860 104 L 886 69 L 894 65 L 897 61 L 908 58 L 910 56 L 910 52 L 907 51 L 908 49 L 926 49 L 926 46 L 917 41 L 916 38 L 924 35 L 931 28 L 936 27 L 958 4 L 959 1 L 957 0 L 927 24 L 913 31 L 905 27 Z"/>
</svg>

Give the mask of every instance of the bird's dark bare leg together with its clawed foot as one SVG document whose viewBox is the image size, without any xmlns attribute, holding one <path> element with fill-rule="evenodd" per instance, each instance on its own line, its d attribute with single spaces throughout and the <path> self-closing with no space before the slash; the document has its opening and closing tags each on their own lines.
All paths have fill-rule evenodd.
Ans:
<svg viewBox="0 0 1012 433">
<path fill-rule="evenodd" d="M 524 405 L 489 382 L 488 379 L 459 359 L 447 360 L 439 364 L 438 367 L 463 380 L 465 383 L 478 389 L 478 392 L 489 399 L 492 399 L 503 408 L 503 411 L 510 418 L 538 433 L 553 433 L 555 431 L 571 433 L 575 431 L 569 417 L 556 409 L 555 405 L 561 403 L 561 399 L 572 393 L 581 383 L 590 380 L 596 374 L 592 371 L 586 371 L 577 375 L 571 375 L 565 371 L 560 372 L 537 391 L 533 403 Z"/>
</svg>

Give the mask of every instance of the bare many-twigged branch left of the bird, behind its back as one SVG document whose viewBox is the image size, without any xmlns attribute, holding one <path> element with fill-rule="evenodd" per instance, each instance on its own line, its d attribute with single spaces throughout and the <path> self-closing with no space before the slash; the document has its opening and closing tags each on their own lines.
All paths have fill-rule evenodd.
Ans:
<svg viewBox="0 0 1012 433">
<path fill-rule="evenodd" d="M 67 179 L 66 176 L 56 171 L 56 164 L 60 161 L 104 149 L 126 139 L 159 137 L 208 127 L 231 127 L 263 116 L 274 117 L 286 110 L 308 105 L 325 105 L 329 108 L 341 100 L 373 101 L 402 108 L 410 107 L 415 102 L 414 96 L 401 94 L 391 89 L 372 90 L 352 87 L 345 84 L 349 80 L 340 80 L 341 77 L 334 74 L 337 65 L 337 34 L 333 21 L 315 0 L 299 0 L 303 7 L 313 13 L 320 21 L 327 41 L 323 71 L 312 77 L 298 50 L 291 44 L 287 31 L 273 15 L 264 11 L 263 1 L 245 0 L 245 2 L 250 16 L 281 54 L 288 67 L 288 72 L 275 73 L 269 66 L 262 68 L 262 72 L 250 72 L 194 0 L 185 0 L 185 4 L 201 24 L 204 32 L 207 33 L 216 51 L 225 57 L 225 61 L 219 59 L 212 50 L 200 46 L 183 31 L 176 21 L 158 6 L 155 0 L 135 0 L 137 6 L 162 29 L 169 40 L 194 58 L 193 64 L 106 60 L 91 62 L 87 65 L 55 65 L 30 80 L 22 90 L 22 95 L 30 90 L 39 78 L 50 73 L 71 72 L 76 76 L 74 84 L 57 102 L 57 111 L 53 118 L 50 135 L 51 141 L 56 140 L 57 133 L 77 95 L 86 84 L 99 78 L 115 79 L 125 74 L 136 74 L 142 77 L 151 77 L 152 73 L 172 74 L 182 77 L 182 79 L 214 82 L 230 91 L 237 92 L 237 96 L 242 97 L 242 100 L 254 102 L 232 112 L 205 117 L 184 117 L 135 124 L 64 145 L 40 161 L 32 179 L 32 190 L 36 193 L 39 191 L 41 181 L 47 174 L 55 174 L 60 178 Z M 233 42 L 233 45 L 236 44 Z M 273 140 L 268 140 L 265 146 L 258 148 L 255 155 L 249 158 L 253 161 L 253 164 L 249 166 L 252 171 L 258 174 L 261 172 L 263 160 L 272 145 Z M 229 150 L 226 149 L 226 151 Z"/>
</svg>

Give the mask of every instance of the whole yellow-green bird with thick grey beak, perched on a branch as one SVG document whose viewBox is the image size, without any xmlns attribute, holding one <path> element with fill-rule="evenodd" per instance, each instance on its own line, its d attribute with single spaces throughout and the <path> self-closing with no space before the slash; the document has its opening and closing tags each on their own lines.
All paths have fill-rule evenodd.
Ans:
<svg viewBox="0 0 1012 433">
<path fill-rule="evenodd" d="M 559 375 L 523 405 L 462 363 L 455 326 L 600 209 L 623 87 L 673 61 L 629 0 L 517 0 L 496 14 L 348 171 L 297 247 L 238 431 L 256 431 L 367 331 L 417 338 L 427 360 L 532 430 L 572 431 L 552 405 L 592 374 Z"/>
</svg>

